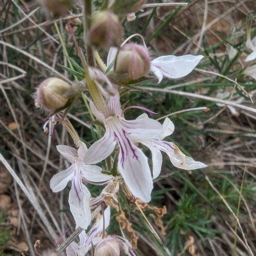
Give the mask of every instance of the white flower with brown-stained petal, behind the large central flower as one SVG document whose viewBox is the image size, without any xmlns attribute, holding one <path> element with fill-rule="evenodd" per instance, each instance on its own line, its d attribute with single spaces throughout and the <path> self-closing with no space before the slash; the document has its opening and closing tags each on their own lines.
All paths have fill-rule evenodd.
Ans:
<svg viewBox="0 0 256 256">
<path fill-rule="evenodd" d="M 144 118 L 148 118 L 148 116 L 146 114 L 142 114 L 137 118 L 137 120 Z M 163 140 L 166 136 L 171 135 L 173 131 L 174 124 L 167 117 L 163 122 L 162 131 L 160 134 L 150 140 L 137 140 L 137 142 L 145 145 L 151 150 L 153 162 L 153 179 L 158 177 L 161 171 L 163 157 L 160 151 L 165 152 L 169 156 L 171 163 L 177 168 L 195 170 L 207 167 L 207 165 L 204 163 L 196 162 L 191 157 L 184 155 L 174 143 Z"/>
</svg>

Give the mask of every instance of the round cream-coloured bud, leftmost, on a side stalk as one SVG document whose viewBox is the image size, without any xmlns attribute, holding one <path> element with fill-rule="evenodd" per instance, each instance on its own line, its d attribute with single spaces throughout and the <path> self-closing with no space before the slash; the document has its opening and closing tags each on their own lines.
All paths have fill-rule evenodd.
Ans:
<svg viewBox="0 0 256 256">
<path fill-rule="evenodd" d="M 51 77 L 41 82 L 37 90 L 38 102 L 47 110 L 56 110 L 66 105 L 69 97 L 65 94 L 70 84 L 59 78 Z"/>
</svg>

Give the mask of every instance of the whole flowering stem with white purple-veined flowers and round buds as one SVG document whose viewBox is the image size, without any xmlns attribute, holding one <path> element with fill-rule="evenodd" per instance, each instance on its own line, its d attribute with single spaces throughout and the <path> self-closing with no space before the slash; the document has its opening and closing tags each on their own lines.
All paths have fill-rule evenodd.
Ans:
<svg viewBox="0 0 256 256">
<path fill-rule="evenodd" d="M 63 10 L 60 12 L 64 12 L 72 3 L 74 2 L 64 1 Z M 145 203 L 150 202 L 153 180 L 160 175 L 163 163 L 161 151 L 168 155 L 172 165 L 177 168 L 194 170 L 206 167 L 204 163 L 183 154 L 175 143 L 166 139 L 175 129 L 168 117 L 163 124 L 149 118 L 146 113 L 132 120 L 125 118 L 125 111 L 129 108 L 154 112 L 141 106 L 123 109 L 120 103 L 120 87 L 138 83 L 143 79 L 157 79 L 159 84 L 163 78 L 184 77 L 192 72 L 203 58 L 202 55 L 166 55 L 151 58 L 144 40 L 141 45 L 126 44 L 126 41 L 120 45 L 123 35 L 120 21 L 125 15 L 136 12 L 144 3 L 145 0 L 109 0 L 100 11 L 86 17 L 87 44 L 90 46 L 88 48 L 93 49 L 91 53 L 96 55 L 97 49 L 108 49 L 107 67 L 100 63 L 100 58 L 98 61 L 102 70 L 86 66 L 83 59 L 85 80 L 80 81 L 83 86 L 79 87 L 78 82 L 70 84 L 59 78 L 49 78 L 43 81 L 37 90 L 37 105 L 52 112 L 44 129 L 47 130 L 46 125 L 49 122 L 52 122 L 52 127 L 57 122 L 62 122 L 75 143 L 75 147 L 57 145 L 57 150 L 70 163 L 70 167 L 55 174 L 50 180 L 53 192 L 63 190 L 67 183 L 71 182 L 68 200 L 70 212 L 77 227 L 84 229 L 79 235 L 80 242 L 72 242 L 67 247 L 68 256 L 84 256 L 92 245 L 95 247 L 96 256 L 118 256 L 120 253 L 134 255 L 131 244 L 125 238 L 105 237 L 104 229 L 110 222 L 110 207 L 106 208 L 106 198 L 117 202 L 120 185 L 128 190 L 134 198 L 132 201 L 139 198 Z M 45 1 L 44 4 L 51 12 L 55 12 L 55 6 L 50 4 L 50 1 Z M 96 119 L 96 131 L 100 137 L 89 148 L 67 121 L 66 112 L 61 112 L 69 110 L 85 87 L 90 93 L 87 95 L 87 108 Z M 53 129 L 51 134 L 53 135 Z M 104 135 L 101 136 L 102 134 Z M 144 148 L 151 151 L 152 166 Z M 101 164 L 103 160 L 108 164 Z M 92 198 L 87 183 L 107 186 L 98 197 Z M 99 205 L 102 209 L 106 208 L 104 216 L 86 233 L 85 230 L 92 221 L 91 210 Z"/>
</svg>

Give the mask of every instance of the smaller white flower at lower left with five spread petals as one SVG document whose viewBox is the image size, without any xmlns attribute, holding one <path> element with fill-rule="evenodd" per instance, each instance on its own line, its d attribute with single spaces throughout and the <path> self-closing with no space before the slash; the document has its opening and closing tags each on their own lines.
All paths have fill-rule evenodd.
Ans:
<svg viewBox="0 0 256 256">
<path fill-rule="evenodd" d="M 83 142 L 81 142 L 78 150 L 66 145 L 58 145 L 57 150 L 72 164 L 68 169 L 52 177 L 50 187 L 53 192 L 59 192 L 67 186 L 70 180 L 72 181 L 68 200 L 70 211 L 76 224 L 87 229 L 91 220 L 90 192 L 82 183 L 82 179 L 91 182 L 102 182 L 111 180 L 111 176 L 102 174 L 102 169 L 99 166 L 90 166 L 83 162 L 88 150 Z"/>
</svg>

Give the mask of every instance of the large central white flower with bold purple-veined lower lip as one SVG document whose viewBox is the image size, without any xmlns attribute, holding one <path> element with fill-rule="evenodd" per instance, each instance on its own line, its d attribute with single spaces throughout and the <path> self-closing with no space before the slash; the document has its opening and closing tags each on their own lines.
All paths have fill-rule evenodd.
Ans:
<svg viewBox="0 0 256 256">
<path fill-rule="evenodd" d="M 131 193 L 143 200 L 151 200 L 153 181 L 148 159 L 143 151 L 134 145 L 133 141 L 150 140 L 160 133 L 162 126 L 159 122 L 148 117 L 126 120 L 122 116 L 119 94 L 110 95 L 106 113 L 96 109 L 93 102 L 90 108 L 96 119 L 105 126 L 105 135 L 93 143 L 84 157 L 88 164 L 99 163 L 108 157 L 116 144 L 119 146 L 118 171 L 121 173 Z"/>
</svg>

